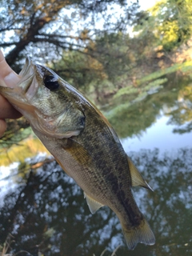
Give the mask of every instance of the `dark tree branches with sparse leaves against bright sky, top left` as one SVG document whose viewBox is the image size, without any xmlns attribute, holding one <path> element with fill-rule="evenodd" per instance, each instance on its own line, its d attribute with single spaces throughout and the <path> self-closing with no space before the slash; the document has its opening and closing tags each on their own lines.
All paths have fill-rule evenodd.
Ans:
<svg viewBox="0 0 192 256">
<path fill-rule="evenodd" d="M 0 47 L 18 72 L 26 54 L 45 63 L 62 50 L 87 50 L 98 35 L 126 30 L 137 11 L 137 1 L 125 0 L 2 0 Z"/>
</svg>

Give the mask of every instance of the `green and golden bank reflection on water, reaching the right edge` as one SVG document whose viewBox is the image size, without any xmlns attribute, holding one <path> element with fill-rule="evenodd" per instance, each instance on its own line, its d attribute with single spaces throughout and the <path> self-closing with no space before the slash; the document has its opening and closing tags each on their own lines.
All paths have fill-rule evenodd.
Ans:
<svg viewBox="0 0 192 256">
<path fill-rule="evenodd" d="M 116 106 L 116 107 L 114 107 Z M 190 132 L 192 122 L 191 78 L 175 79 L 171 75 L 164 89 L 150 94 L 140 102 L 129 102 L 126 97 L 118 98 L 106 117 L 120 138 L 142 135 L 162 115 L 170 117 L 169 123 L 178 126 L 175 132 Z M 181 130 L 179 130 L 181 128 Z"/>
</svg>

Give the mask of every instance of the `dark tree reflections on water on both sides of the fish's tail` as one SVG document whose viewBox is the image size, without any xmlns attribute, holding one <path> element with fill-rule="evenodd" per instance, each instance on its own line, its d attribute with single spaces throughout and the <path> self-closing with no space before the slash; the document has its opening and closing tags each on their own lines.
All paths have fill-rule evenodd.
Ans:
<svg viewBox="0 0 192 256">
<path fill-rule="evenodd" d="M 154 246 L 138 245 L 127 250 L 118 219 L 107 207 L 90 214 L 82 190 L 53 159 L 18 168 L 19 183 L 4 198 L 0 210 L 0 244 L 14 236 L 11 252 L 32 255 L 191 255 L 192 253 L 192 149 L 178 154 L 158 150 L 132 153 L 138 169 L 154 188 L 134 190 L 142 212 L 156 236 Z M 29 168 L 30 167 L 30 168 Z M 28 170 L 26 174 L 26 170 Z M 10 179 L 13 177 L 10 176 Z M 23 179 L 22 179 L 23 181 Z M 8 191 L 8 190 L 7 190 Z M 30 255 L 28 254 L 28 255 Z M 27 255 L 21 253 L 19 255 Z"/>
</svg>

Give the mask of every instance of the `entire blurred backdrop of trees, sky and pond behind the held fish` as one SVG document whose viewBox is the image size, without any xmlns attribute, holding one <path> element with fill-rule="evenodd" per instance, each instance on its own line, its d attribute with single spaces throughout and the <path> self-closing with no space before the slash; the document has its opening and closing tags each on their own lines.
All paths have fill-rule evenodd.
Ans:
<svg viewBox="0 0 192 256">
<path fill-rule="evenodd" d="M 114 213 L 82 190 L 25 118 L 0 138 L 0 255 L 192 254 L 191 0 L 0 0 L 0 47 L 26 56 L 94 102 L 154 193 L 134 197 L 156 237 L 126 248 Z"/>
</svg>

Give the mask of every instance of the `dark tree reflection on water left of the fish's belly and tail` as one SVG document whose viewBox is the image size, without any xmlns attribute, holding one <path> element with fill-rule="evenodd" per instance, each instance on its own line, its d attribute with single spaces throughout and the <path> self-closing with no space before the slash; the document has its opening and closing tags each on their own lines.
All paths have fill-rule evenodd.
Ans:
<svg viewBox="0 0 192 256">
<path fill-rule="evenodd" d="M 11 233 L 14 250 L 31 254 L 37 246 L 46 255 L 98 254 L 119 233 L 114 214 L 103 208 L 92 216 L 82 191 L 55 162 L 30 172 L 25 188 L 6 197 L 0 223 L 1 242 Z"/>
</svg>

